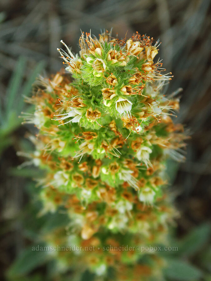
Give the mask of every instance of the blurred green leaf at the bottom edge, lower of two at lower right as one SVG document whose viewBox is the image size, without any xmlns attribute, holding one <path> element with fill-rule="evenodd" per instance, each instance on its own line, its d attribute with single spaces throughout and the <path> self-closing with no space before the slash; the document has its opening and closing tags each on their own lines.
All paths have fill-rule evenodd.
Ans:
<svg viewBox="0 0 211 281">
<path fill-rule="evenodd" d="M 164 275 L 170 280 L 198 281 L 202 272 L 193 265 L 178 259 L 169 259 Z"/>
</svg>

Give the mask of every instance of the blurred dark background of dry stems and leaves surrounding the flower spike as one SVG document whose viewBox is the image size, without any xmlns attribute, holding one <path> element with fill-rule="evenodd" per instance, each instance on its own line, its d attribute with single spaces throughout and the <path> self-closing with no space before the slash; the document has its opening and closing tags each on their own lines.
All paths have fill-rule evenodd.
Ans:
<svg viewBox="0 0 211 281">
<path fill-rule="evenodd" d="M 78 52 L 80 29 L 91 28 L 98 35 L 101 29 L 113 27 L 118 37 L 138 31 L 160 38 L 160 57 L 174 75 L 166 90 L 183 88 L 176 122 L 189 128 L 191 139 L 186 162 L 169 162 L 168 173 L 180 211 L 175 228 L 179 255 L 199 271 L 192 278 L 188 270 L 193 269 L 181 272 L 181 264 L 174 263 L 167 275 L 169 280 L 211 280 L 210 0 L 1 0 L 0 11 L 1 279 L 22 255 L 9 280 L 54 280 L 43 277 L 48 275 L 45 256 L 23 257 L 44 224 L 36 219 L 40 206 L 33 198 L 38 190 L 30 180 L 38 171 L 17 169 L 24 159 L 16 152 L 30 146 L 24 135 L 34 131 L 33 126 L 21 126 L 18 118 L 21 111 L 30 110 L 25 109 L 23 96 L 31 95 L 38 73 L 48 75 L 61 68 L 57 52 L 61 39 Z M 19 278 L 18 269 L 20 276 L 33 274 Z"/>
</svg>

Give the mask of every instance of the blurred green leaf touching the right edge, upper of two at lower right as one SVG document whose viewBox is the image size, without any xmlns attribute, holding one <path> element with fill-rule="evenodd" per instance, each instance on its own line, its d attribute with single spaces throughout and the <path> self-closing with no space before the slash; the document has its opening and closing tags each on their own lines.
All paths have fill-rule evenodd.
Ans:
<svg viewBox="0 0 211 281">
<path fill-rule="evenodd" d="M 211 224 L 205 223 L 194 228 L 181 241 L 179 255 L 189 256 L 195 254 L 202 246 L 208 242 L 211 234 Z"/>
</svg>

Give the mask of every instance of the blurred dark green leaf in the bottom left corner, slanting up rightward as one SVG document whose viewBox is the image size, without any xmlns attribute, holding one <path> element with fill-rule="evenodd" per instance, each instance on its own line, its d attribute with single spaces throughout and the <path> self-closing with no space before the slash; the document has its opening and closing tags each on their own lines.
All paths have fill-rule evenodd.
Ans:
<svg viewBox="0 0 211 281">
<path fill-rule="evenodd" d="M 30 271 L 36 267 L 44 264 L 50 258 L 48 251 L 32 250 L 32 247 L 36 247 L 38 244 L 31 245 L 24 249 L 23 252 L 18 256 L 13 265 L 7 272 L 8 278 L 14 278 L 28 274 Z M 39 247 L 44 247 L 45 244 L 40 243 Z M 38 248 L 37 248 L 38 249 Z"/>
</svg>

